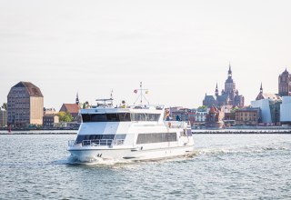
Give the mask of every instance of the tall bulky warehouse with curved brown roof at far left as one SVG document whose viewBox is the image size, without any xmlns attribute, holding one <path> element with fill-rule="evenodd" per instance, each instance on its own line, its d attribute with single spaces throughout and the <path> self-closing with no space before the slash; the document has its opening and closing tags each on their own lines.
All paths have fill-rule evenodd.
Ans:
<svg viewBox="0 0 291 200">
<path fill-rule="evenodd" d="M 7 124 L 16 127 L 42 125 L 44 95 L 30 82 L 19 82 L 7 95 Z"/>
</svg>

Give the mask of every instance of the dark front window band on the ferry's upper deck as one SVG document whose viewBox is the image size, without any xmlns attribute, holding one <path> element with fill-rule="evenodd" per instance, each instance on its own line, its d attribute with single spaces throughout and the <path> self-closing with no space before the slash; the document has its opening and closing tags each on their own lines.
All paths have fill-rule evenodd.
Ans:
<svg viewBox="0 0 291 200">
<path fill-rule="evenodd" d="M 82 114 L 83 122 L 130 122 L 129 113 Z"/>
</svg>

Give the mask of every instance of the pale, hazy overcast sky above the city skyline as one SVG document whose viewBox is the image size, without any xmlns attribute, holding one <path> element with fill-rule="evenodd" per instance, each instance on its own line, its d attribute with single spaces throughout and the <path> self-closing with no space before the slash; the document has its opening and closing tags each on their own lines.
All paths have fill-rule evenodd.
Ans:
<svg viewBox="0 0 291 200">
<path fill-rule="evenodd" d="M 45 107 L 135 102 L 194 108 L 221 91 L 229 63 L 245 104 L 291 71 L 289 0 L 0 0 L 0 104 L 20 81 Z"/>
</svg>

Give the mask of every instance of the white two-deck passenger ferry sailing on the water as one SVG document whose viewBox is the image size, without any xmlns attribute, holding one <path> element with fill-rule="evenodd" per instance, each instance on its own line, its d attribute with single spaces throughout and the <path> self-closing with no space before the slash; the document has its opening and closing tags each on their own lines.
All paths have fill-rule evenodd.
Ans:
<svg viewBox="0 0 291 200">
<path fill-rule="evenodd" d="M 83 122 L 76 139 L 68 142 L 68 151 L 80 162 L 137 161 L 192 154 L 191 126 L 183 121 L 165 121 L 165 113 L 162 105 L 103 104 L 82 109 Z"/>
</svg>

